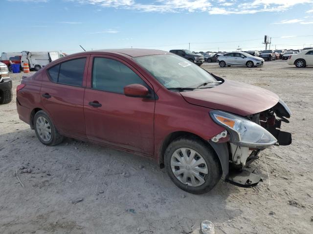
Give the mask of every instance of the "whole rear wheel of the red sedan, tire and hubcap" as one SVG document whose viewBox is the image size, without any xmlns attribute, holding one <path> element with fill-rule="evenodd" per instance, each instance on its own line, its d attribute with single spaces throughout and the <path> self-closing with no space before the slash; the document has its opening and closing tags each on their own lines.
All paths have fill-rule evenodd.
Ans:
<svg viewBox="0 0 313 234">
<path fill-rule="evenodd" d="M 62 142 L 63 136 L 59 134 L 51 118 L 44 111 L 38 111 L 35 114 L 34 126 L 41 143 L 52 146 Z"/>
</svg>

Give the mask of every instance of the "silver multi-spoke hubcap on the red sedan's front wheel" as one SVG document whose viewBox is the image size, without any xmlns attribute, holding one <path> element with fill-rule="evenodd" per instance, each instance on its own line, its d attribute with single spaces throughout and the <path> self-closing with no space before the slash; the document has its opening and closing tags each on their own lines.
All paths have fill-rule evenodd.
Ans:
<svg viewBox="0 0 313 234">
<path fill-rule="evenodd" d="M 198 187 L 205 182 L 208 174 L 203 157 L 189 148 L 179 148 L 171 157 L 171 168 L 174 176 L 183 184 Z"/>
</svg>

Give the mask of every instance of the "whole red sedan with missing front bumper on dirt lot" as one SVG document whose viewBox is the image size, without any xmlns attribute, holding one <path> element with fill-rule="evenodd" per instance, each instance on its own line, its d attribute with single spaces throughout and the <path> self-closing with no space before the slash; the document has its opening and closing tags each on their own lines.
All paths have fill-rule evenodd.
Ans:
<svg viewBox="0 0 313 234">
<path fill-rule="evenodd" d="M 277 95 L 159 50 L 57 59 L 22 79 L 16 103 L 43 144 L 73 137 L 148 156 L 195 194 L 220 178 L 258 183 L 259 176 L 242 169 L 261 150 L 291 143 L 291 134 L 280 131 L 291 112 Z"/>
</svg>

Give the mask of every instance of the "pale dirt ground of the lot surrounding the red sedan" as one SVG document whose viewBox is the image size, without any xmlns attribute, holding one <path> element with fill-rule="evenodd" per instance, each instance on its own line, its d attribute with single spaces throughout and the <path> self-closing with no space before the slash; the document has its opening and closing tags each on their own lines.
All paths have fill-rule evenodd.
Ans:
<svg viewBox="0 0 313 234">
<path fill-rule="evenodd" d="M 313 67 L 282 60 L 261 68 L 202 67 L 275 92 L 293 113 L 282 124 L 292 144 L 267 149 L 250 165 L 264 180 L 257 187 L 221 181 L 192 195 L 140 156 L 72 139 L 46 147 L 18 117 L 22 74 L 11 74 L 13 101 L 0 106 L 0 234 L 188 234 L 204 219 L 216 234 L 312 234 Z M 21 167 L 32 170 L 19 170 L 24 188 L 14 174 Z"/>
</svg>

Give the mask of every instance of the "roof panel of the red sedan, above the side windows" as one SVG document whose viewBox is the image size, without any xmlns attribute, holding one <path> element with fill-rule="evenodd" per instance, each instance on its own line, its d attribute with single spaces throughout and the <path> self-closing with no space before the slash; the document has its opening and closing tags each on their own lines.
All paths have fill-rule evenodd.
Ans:
<svg viewBox="0 0 313 234">
<path fill-rule="evenodd" d="M 84 54 L 105 54 L 105 53 L 112 53 L 117 55 L 126 55 L 129 57 L 142 57 L 142 56 L 149 56 L 149 55 L 165 55 L 171 54 L 167 51 L 162 50 L 150 50 L 150 49 L 107 49 L 107 50 L 92 50 L 86 51 L 81 53 L 74 54 L 77 55 L 84 55 Z"/>
</svg>

